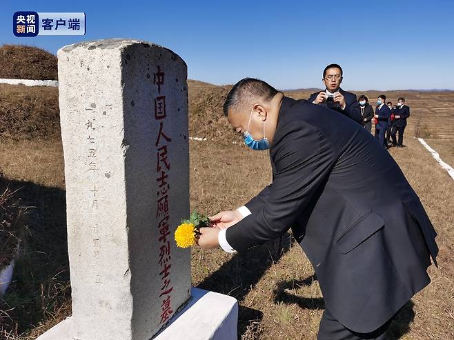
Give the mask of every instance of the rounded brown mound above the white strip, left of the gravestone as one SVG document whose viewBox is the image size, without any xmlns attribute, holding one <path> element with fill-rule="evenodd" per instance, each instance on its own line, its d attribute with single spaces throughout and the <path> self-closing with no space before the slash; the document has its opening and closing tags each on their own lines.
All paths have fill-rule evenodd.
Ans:
<svg viewBox="0 0 454 340">
<path fill-rule="evenodd" d="M 0 46 L 0 78 L 57 80 L 57 56 L 32 46 Z"/>
</svg>

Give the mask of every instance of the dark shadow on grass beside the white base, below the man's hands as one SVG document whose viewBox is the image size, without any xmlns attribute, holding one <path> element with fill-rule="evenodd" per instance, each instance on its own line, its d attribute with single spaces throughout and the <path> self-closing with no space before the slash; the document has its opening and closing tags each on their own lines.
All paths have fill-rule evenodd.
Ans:
<svg viewBox="0 0 454 340">
<path fill-rule="evenodd" d="M 290 235 L 285 234 L 281 239 L 267 242 L 242 254 L 235 254 L 197 286 L 230 295 L 239 301 L 239 339 L 254 333 L 263 317 L 263 313 L 259 310 L 241 306 L 241 301 L 254 288 L 266 270 L 288 252 L 290 242 Z"/>
</svg>

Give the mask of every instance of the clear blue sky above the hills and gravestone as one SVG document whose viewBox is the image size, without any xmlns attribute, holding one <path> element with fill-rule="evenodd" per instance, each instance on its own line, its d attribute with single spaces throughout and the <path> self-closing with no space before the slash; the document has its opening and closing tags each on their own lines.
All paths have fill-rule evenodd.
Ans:
<svg viewBox="0 0 454 340">
<path fill-rule="evenodd" d="M 86 12 L 79 37 L 19 38 L 12 14 Z M 0 44 L 54 54 L 106 38 L 170 48 L 188 77 L 215 84 L 243 77 L 280 89 L 322 87 L 328 63 L 350 90 L 454 89 L 454 0 L 433 1 L 1 1 Z"/>
</svg>

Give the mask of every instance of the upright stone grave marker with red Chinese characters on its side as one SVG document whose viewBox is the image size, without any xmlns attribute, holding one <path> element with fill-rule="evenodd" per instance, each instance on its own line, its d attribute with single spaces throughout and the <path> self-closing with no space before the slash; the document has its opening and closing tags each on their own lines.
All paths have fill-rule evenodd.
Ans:
<svg viewBox="0 0 454 340">
<path fill-rule="evenodd" d="M 40 339 L 148 340 L 190 297 L 173 240 L 189 214 L 186 63 L 128 39 L 58 59 L 72 317 Z"/>
</svg>

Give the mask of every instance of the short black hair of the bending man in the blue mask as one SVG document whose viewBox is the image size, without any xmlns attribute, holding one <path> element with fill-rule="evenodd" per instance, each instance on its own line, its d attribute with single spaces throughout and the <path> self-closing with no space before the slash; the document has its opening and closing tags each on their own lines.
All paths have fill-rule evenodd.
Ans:
<svg viewBox="0 0 454 340">
<path fill-rule="evenodd" d="M 253 99 L 271 100 L 279 92 L 273 86 L 263 80 L 255 78 L 244 78 L 238 81 L 228 92 L 224 102 L 224 114 L 228 115 L 228 110 L 234 106 L 242 106 L 244 101 Z"/>
</svg>

